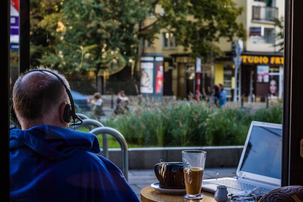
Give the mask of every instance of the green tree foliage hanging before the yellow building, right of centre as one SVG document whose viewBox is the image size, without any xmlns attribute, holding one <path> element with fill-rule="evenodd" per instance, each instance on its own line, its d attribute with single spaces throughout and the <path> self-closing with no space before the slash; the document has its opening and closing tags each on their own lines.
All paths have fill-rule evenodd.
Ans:
<svg viewBox="0 0 303 202">
<path fill-rule="evenodd" d="M 141 31 L 151 26 L 165 28 L 173 33 L 176 43 L 191 49 L 193 57 L 209 58 L 221 53 L 219 47 L 212 42 L 220 38 L 232 41 L 233 37 L 246 40 L 246 30 L 236 18 L 242 14 L 243 8 L 222 0 L 159 0 L 163 13 L 154 14 L 157 20 L 153 25 L 141 28 Z M 150 33 L 149 33 L 150 34 Z"/>
</svg>

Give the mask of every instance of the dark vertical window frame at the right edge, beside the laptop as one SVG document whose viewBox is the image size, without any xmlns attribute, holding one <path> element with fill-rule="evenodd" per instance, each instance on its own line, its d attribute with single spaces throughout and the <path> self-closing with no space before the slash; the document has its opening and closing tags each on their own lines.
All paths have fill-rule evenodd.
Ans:
<svg viewBox="0 0 303 202">
<path fill-rule="evenodd" d="M 281 186 L 303 184 L 302 143 L 302 0 L 285 0 L 284 94 Z M 302 145 L 303 146 L 303 145 Z"/>
</svg>

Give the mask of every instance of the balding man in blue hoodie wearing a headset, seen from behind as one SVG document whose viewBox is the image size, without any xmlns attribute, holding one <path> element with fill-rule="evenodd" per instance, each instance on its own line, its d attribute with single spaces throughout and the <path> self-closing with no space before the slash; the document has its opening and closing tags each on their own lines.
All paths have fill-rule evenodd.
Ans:
<svg viewBox="0 0 303 202">
<path fill-rule="evenodd" d="M 21 129 L 10 131 L 10 201 L 139 202 L 120 169 L 97 154 L 96 136 L 68 128 L 78 118 L 69 89 L 43 67 L 15 81 Z"/>
</svg>

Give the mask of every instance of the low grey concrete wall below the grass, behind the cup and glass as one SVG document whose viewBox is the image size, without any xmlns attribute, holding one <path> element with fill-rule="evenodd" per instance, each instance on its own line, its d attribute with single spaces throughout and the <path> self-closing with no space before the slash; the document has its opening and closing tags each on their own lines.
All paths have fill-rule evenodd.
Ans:
<svg viewBox="0 0 303 202">
<path fill-rule="evenodd" d="M 235 168 L 238 166 L 243 146 L 129 148 L 128 169 L 153 169 L 160 159 L 166 162 L 182 161 L 181 152 L 187 149 L 207 152 L 205 168 Z M 109 149 L 108 159 L 121 168 L 121 149 Z"/>
</svg>

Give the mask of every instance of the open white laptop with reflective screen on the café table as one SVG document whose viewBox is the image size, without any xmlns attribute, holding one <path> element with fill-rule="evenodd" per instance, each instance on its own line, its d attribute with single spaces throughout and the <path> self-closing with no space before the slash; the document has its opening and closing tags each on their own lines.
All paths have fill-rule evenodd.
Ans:
<svg viewBox="0 0 303 202">
<path fill-rule="evenodd" d="M 252 121 L 237 167 L 237 176 L 203 179 L 202 190 L 263 195 L 281 186 L 282 124 Z"/>
</svg>

